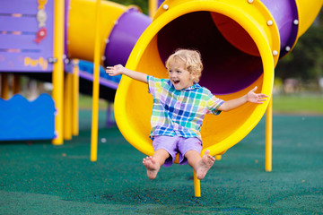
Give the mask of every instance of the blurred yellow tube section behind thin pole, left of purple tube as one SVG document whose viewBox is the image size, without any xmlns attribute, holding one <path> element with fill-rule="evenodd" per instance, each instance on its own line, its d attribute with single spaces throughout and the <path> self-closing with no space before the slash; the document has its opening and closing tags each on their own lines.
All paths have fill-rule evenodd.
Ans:
<svg viewBox="0 0 323 215">
<path fill-rule="evenodd" d="M 130 8 L 109 1 L 101 1 L 101 56 L 109 39 L 109 34 L 119 16 Z M 67 19 L 67 52 L 69 58 L 93 61 L 95 38 L 95 1 L 71 0 Z M 103 60 L 103 59 L 102 59 Z"/>
</svg>

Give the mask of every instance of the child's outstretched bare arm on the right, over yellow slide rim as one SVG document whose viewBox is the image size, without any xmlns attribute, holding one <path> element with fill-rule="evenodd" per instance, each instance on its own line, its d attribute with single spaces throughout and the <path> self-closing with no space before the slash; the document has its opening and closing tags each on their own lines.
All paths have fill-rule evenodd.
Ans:
<svg viewBox="0 0 323 215">
<path fill-rule="evenodd" d="M 256 86 L 254 89 L 250 90 L 246 95 L 238 99 L 231 99 L 231 100 L 225 101 L 218 109 L 223 111 L 229 111 L 231 109 L 240 107 L 241 105 L 247 102 L 262 104 L 263 101 L 266 101 L 265 98 L 267 98 L 267 96 L 262 93 L 255 93 L 257 88 L 258 87 Z"/>
</svg>

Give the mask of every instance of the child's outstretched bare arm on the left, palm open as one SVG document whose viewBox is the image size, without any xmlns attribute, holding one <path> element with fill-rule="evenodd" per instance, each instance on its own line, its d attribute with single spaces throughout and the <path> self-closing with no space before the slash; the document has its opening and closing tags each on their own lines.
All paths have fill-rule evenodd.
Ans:
<svg viewBox="0 0 323 215">
<path fill-rule="evenodd" d="M 125 74 L 129 78 L 135 79 L 139 82 L 147 83 L 147 74 L 129 70 L 121 64 L 118 64 L 115 66 L 107 66 L 106 73 L 108 73 L 110 76 L 116 76 L 118 74 Z"/>
</svg>

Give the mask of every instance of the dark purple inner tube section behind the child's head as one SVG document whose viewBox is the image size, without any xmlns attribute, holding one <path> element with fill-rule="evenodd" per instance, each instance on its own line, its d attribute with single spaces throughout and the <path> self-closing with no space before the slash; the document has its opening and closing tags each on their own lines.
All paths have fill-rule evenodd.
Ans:
<svg viewBox="0 0 323 215">
<path fill-rule="evenodd" d="M 179 47 L 199 50 L 204 64 L 199 83 L 216 95 L 245 89 L 263 73 L 261 58 L 231 46 L 209 12 L 187 13 L 173 20 L 159 31 L 157 42 L 162 62 Z"/>
</svg>

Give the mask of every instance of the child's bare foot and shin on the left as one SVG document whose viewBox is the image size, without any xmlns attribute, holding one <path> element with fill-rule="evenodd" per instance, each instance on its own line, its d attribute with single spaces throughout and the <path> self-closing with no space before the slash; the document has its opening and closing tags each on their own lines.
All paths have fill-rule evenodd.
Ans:
<svg viewBox="0 0 323 215">
<path fill-rule="evenodd" d="M 154 152 L 153 157 L 150 156 L 143 159 L 144 167 L 147 169 L 147 176 L 150 179 L 154 179 L 165 160 L 169 157 L 170 154 L 167 150 L 160 149 Z"/>
</svg>

